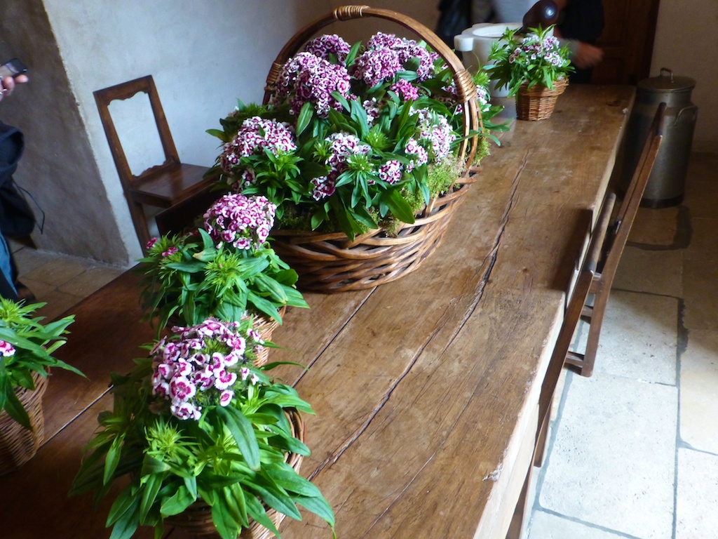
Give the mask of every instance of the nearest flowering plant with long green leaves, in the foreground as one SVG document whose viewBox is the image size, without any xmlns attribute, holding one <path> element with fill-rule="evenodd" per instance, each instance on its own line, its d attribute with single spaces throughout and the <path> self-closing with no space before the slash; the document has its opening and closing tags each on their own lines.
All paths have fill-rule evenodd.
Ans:
<svg viewBox="0 0 718 539">
<path fill-rule="evenodd" d="M 266 343 L 251 321 L 172 329 L 129 375 L 113 375 L 113 410 L 99 416 L 70 494 L 94 490 L 99 501 L 129 476 L 108 515 L 112 537 L 129 538 L 139 525 L 161 537 L 166 518 L 197 502 L 211 507 L 224 539 L 250 518 L 279 537 L 268 508 L 299 520 L 297 505 L 333 529 L 319 489 L 286 462 L 289 452 L 309 455 L 286 412 L 312 408 L 272 381 L 270 366 L 253 365 Z"/>
</svg>

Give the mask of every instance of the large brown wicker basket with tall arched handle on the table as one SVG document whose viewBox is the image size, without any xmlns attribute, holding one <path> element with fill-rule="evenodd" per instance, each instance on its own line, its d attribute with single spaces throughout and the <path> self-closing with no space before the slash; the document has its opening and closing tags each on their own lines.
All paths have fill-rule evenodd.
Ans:
<svg viewBox="0 0 718 539">
<path fill-rule="evenodd" d="M 279 52 L 267 76 L 264 103 L 274 95 L 281 69 L 309 38 L 322 27 L 337 21 L 378 17 L 401 24 L 424 40 L 452 70 L 457 87 L 457 101 L 464 107 L 463 139 L 459 158 L 473 162 L 478 137 L 470 133 L 482 129 L 477 107 L 476 87 L 470 73 L 454 52 L 434 32 L 411 17 L 387 9 L 369 6 L 342 6 L 317 19 L 294 34 Z M 477 168 L 467 167 L 447 193 L 439 195 L 416 215 L 414 224 L 403 224 L 391 236 L 383 229 L 350 239 L 346 234 L 274 229 L 273 247 L 277 254 L 299 274 L 302 290 L 342 292 L 361 290 L 398 279 L 416 270 L 437 247 L 454 209 L 475 181 Z"/>
</svg>

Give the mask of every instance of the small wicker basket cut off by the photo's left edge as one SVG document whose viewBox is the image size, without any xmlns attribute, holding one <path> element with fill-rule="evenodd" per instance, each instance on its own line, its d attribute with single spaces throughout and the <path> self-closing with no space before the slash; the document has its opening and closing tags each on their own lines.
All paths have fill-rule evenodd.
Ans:
<svg viewBox="0 0 718 539">
<path fill-rule="evenodd" d="M 45 435 L 42 417 L 42 395 L 47 389 L 47 378 L 32 374 L 34 390 L 16 390 L 22 406 L 27 410 L 32 430 L 17 423 L 5 411 L 0 413 L 0 476 L 15 471 L 37 453 Z"/>
</svg>

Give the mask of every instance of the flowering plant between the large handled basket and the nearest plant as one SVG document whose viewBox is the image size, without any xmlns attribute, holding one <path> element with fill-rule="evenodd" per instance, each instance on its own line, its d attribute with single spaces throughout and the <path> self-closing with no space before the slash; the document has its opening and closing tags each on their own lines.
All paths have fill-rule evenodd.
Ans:
<svg viewBox="0 0 718 539">
<path fill-rule="evenodd" d="M 275 213 L 264 196 L 230 193 L 208 208 L 201 228 L 152 239 L 139 266 L 147 318 L 159 318 L 160 328 L 172 317 L 192 326 L 246 313 L 281 323 L 281 308 L 307 307 L 294 287 L 297 272 L 267 241 Z"/>
</svg>

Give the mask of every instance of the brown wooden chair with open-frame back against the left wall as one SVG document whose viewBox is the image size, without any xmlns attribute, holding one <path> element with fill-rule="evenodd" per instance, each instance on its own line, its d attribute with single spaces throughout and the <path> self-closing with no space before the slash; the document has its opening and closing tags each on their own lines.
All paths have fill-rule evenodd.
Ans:
<svg viewBox="0 0 718 539">
<path fill-rule="evenodd" d="M 144 170 L 139 175 L 134 175 L 130 170 L 108 107 L 112 101 L 129 99 L 139 92 L 149 96 L 152 114 L 157 124 L 157 132 L 164 152 L 164 162 Z M 144 206 L 164 209 L 157 217 L 161 234 L 180 231 L 183 224 L 190 224 L 190 221 L 198 213 L 208 208 L 212 201 L 212 195 L 209 192 L 212 180 L 205 178 L 208 167 L 180 162 L 151 75 L 103 88 L 93 94 L 127 199 L 137 238 L 144 252 L 147 241 L 150 239 Z"/>
</svg>

